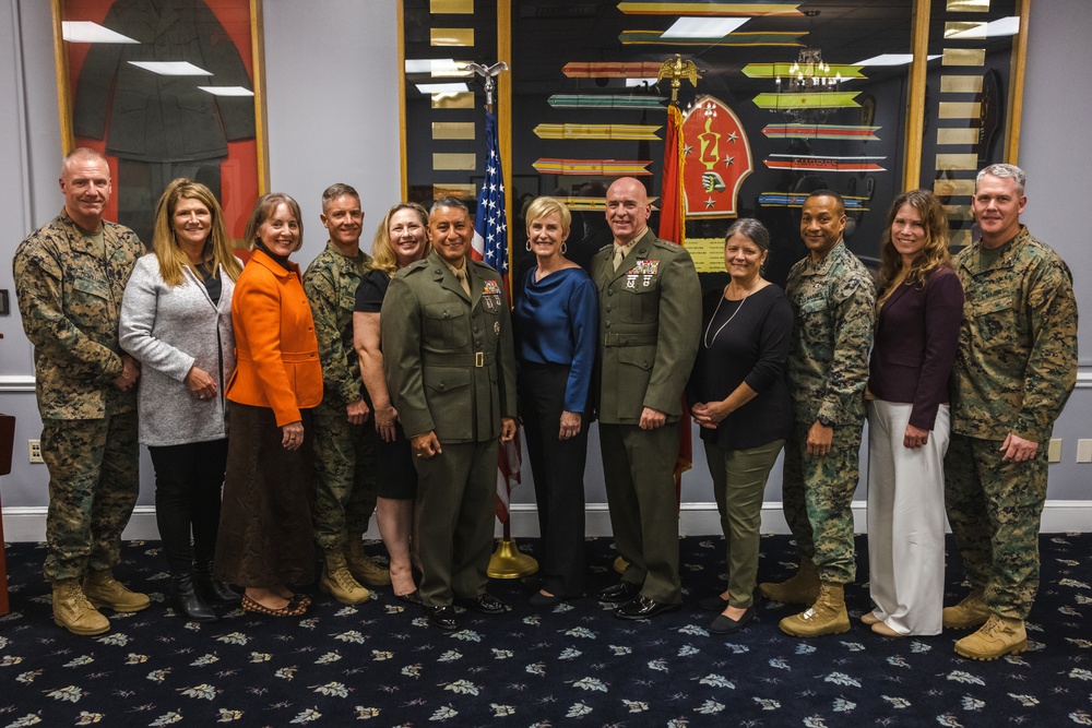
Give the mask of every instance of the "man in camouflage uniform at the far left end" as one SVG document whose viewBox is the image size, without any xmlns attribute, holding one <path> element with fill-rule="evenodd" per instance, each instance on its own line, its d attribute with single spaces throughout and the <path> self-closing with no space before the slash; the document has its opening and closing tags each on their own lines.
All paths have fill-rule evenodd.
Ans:
<svg viewBox="0 0 1092 728">
<path fill-rule="evenodd" d="M 112 575 L 140 491 L 140 367 L 118 343 L 118 320 L 144 246 L 129 228 L 103 220 L 110 200 L 103 155 L 72 152 L 60 186 L 61 214 L 15 250 L 15 290 L 34 345 L 49 469 L 45 574 L 54 621 L 74 634 L 102 634 L 110 622 L 96 607 L 132 612 L 150 604 Z"/>
</svg>

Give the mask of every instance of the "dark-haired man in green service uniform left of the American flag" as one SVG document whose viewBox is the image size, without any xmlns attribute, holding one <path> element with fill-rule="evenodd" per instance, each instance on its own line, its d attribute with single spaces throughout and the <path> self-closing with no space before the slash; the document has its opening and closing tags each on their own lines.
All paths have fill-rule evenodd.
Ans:
<svg viewBox="0 0 1092 728">
<path fill-rule="evenodd" d="M 429 213 L 432 252 L 399 271 L 383 299 L 383 369 L 417 467 L 418 590 L 429 624 L 458 628 L 452 605 L 486 614 L 497 498 L 497 440 L 515 437 L 515 350 L 500 276 L 467 259 L 466 205 Z"/>
</svg>

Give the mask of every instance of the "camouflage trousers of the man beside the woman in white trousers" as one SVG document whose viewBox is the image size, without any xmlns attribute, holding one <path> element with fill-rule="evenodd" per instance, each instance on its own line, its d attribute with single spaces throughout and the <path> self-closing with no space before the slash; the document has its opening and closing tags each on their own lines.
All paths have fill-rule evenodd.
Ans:
<svg viewBox="0 0 1092 728">
<path fill-rule="evenodd" d="M 812 422 L 795 422 L 785 443 L 782 505 L 803 559 L 811 559 L 819 577 L 851 584 L 856 576 L 853 547 L 853 491 L 857 489 L 862 425 L 834 428 L 830 454 L 809 455 Z"/>
</svg>

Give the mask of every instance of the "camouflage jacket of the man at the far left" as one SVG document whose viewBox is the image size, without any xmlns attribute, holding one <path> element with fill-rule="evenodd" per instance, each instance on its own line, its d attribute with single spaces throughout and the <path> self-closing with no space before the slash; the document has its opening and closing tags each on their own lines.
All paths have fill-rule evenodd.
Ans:
<svg viewBox="0 0 1092 728">
<path fill-rule="evenodd" d="M 144 244 L 103 222 L 106 259 L 61 211 L 15 249 L 15 295 L 34 345 L 35 389 L 43 419 L 97 419 L 130 411 L 136 389 L 121 392 L 118 322 L 121 298 Z"/>
</svg>

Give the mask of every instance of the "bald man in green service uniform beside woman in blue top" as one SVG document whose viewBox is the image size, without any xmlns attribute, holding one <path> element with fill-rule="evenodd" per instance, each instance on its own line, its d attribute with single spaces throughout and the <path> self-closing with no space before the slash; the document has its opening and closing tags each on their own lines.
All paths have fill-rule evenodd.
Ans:
<svg viewBox="0 0 1092 728">
<path fill-rule="evenodd" d="M 606 205 L 614 243 L 592 260 L 597 411 L 610 528 L 628 566 L 598 598 L 618 605 L 620 619 L 645 619 L 682 601 L 674 474 L 682 390 L 701 336 L 701 284 L 690 253 L 649 229 L 652 205 L 640 181 L 616 180 Z"/>
</svg>

